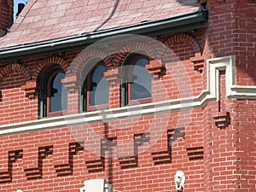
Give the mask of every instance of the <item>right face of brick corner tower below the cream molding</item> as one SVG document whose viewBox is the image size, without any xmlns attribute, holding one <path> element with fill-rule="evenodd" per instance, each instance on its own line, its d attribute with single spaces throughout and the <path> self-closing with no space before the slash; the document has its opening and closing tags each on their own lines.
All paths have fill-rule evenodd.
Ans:
<svg viewBox="0 0 256 192">
<path fill-rule="evenodd" d="M 255 189 L 255 102 L 236 102 L 237 191 Z"/>
</svg>

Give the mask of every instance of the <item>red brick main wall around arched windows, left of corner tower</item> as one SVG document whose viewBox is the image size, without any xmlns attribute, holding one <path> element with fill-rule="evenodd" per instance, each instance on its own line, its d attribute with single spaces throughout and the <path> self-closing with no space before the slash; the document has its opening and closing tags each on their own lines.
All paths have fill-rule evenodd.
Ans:
<svg viewBox="0 0 256 192">
<path fill-rule="evenodd" d="M 203 89 L 202 73 L 195 70 L 194 65 L 190 63 L 190 57 L 196 61 L 195 47 L 189 42 L 193 39 L 185 34 L 176 35 L 176 37 L 175 42 L 172 41 L 172 36 L 166 36 L 162 41 L 172 46 L 183 67 L 178 66 L 177 61 L 167 61 L 171 58 L 167 55 L 165 70 L 151 71 L 156 77 L 153 79 L 152 88 L 154 102 L 196 96 Z M 180 45 L 175 47 L 173 44 Z M 139 49 L 143 44 L 131 44 L 130 46 L 125 49 Z M 190 54 L 182 55 L 184 50 L 189 50 Z M 65 68 L 67 63 L 72 63 L 78 53 L 79 51 L 67 53 L 62 58 L 49 55 L 20 61 L 20 64 L 2 65 L 2 108 L 6 108 L 5 101 L 9 99 L 6 92 L 13 92 L 17 87 L 20 92 L 15 92 L 14 95 L 22 97 L 26 102 L 22 115 L 30 113 L 32 114 L 30 119 L 37 119 L 39 95 L 37 91 L 39 89 L 32 89 L 30 93 L 29 84 L 26 82 L 37 82 L 38 77 L 51 64 L 62 63 L 61 66 Z M 117 67 L 120 67 L 125 57 L 118 55 L 117 57 L 119 58 Z M 162 66 L 162 63 L 160 65 Z M 27 71 L 25 66 L 30 71 Z M 148 68 L 152 67 L 154 63 L 149 63 Z M 185 73 L 187 77 L 183 79 L 177 75 L 177 72 Z M 9 76 L 13 79 L 8 79 Z M 20 84 L 15 80 L 18 77 L 20 77 Z M 73 79 L 66 80 L 67 83 L 70 81 Z M 184 91 L 187 84 L 189 84 L 189 92 Z M 76 84 L 73 86 L 67 84 L 70 90 L 68 108 L 71 110 L 69 113 L 78 113 L 78 108 L 72 110 L 74 105 L 78 106 L 75 101 L 79 101 L 79 91 L 75 89 L 75 86 Z M 117 93 L 119 93 L 118 86 L 113 84 L 115 101 L 110 102 L 109 108 L 120 107 L 120 100 L 116 102 L 114 98 Z M 16 105 L 20 103 L 20 100 L 16 98 L 11 99 Z M 15 108 L 16 106 L 13 108 L 14 113 L 19 113 L 15 111 Z M 32 108 L 34 108 L 33 113 L 31 113 Z M 28 117 L 5 113 L 4 110 L 1 110 L 1 113 L 3 114 L 2 124 L 30 120 Z M 202 119 L 198 118 L 201 116 L 202 110 L 197 109 L 189 113 L 138 116 L 104 124 L 69 127 L 69 129 L 63 127 L 63 129 L 52 131 L 3 137 L 3 144 L 7 147 L 2 151 L 1 191 L 10 191 L 14 188 L 24 191 L 73 191 L 82 187 L 84 180 L 96 177 L 107 178 L 108 183 L 113 184 L 113 189 L 121 191 L 144 191 L 148 188 L 174 191 L 172 177 L 177 169 L 189 172 L 186 184 L 192 189 L 191 191 L 202 191 L 203 137 Z M 14 120 L 8 121 L 11 117 L 14 117 Z M 91 136 L 87 141 L 91 132 L 96 133 L 103 140 Z M 95 142 L 90 143 L 91 141 Z M 102 157 L 99 152 L 104 152 L 101 154 Z M 45 182 L 47 184 L 44 184 Z"/>
</svg>

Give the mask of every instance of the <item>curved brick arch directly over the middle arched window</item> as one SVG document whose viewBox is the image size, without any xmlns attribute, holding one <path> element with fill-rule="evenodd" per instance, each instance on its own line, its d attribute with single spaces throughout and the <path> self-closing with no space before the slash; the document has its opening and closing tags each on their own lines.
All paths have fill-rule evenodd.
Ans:
<svg viewBox="0 0 256 192">
<path fill-rule="evenodd" d="M 70 65 L 70 70 L 68 71 L 68 75 L 76 75 L 80 77 L 83 71 L 89 72 L 90 68 L 94 65 L 90 65 L 90 61 L 94 59 L 100 59 L 105 62 L 106 67 L 113 67 L 111 58 L 109 55 L 104 53 L 99 49 L 84 49 L 79 55 L 73 60 Z"/>
</svg>

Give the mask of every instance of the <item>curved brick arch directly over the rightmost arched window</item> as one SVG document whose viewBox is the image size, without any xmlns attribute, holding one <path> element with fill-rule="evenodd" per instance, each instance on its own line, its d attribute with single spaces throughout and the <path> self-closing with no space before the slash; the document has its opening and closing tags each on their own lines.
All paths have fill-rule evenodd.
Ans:
<svg viewBox="0 0 256 192">
<path fill-rule="evenodd" d="M 155 58 L 156 57 L 156 50 L 152 49 L 149 44 L 145 44 L 143 42 L 131 42 L 130 44 L 126 44 L 120 51 L 119 54 L 119 66 L 121 66 L 127 56 L 131 53 L 136 53 L 137 51 L 144 51 L 149 57 Z"/>
</svg>

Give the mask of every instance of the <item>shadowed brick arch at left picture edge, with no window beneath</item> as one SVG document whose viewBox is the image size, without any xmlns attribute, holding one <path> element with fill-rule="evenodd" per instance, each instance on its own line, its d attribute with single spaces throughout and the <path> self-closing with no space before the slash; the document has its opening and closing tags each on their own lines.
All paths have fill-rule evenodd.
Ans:
<svg viewBox="0 0 256 192">
<path fill-rule="evenodd" d="M 12 63 L 0 69 L 0 81 L 4 78 L 5 74 L 11 73 L 11 71 L 20 72 L 27 81 L 32 80 L 32 74 L 28 68 L 24 67 L 20 63 Z"/>
</svg>

